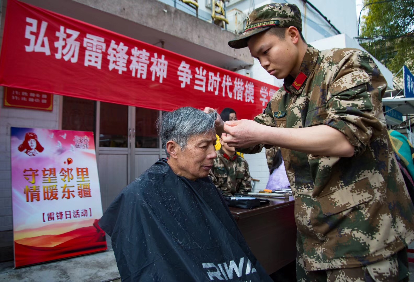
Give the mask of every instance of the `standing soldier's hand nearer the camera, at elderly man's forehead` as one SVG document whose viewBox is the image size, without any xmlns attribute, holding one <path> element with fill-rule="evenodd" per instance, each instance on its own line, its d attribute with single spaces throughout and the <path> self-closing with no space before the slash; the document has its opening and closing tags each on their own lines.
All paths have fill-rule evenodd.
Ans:
<svg viewBox="0 0 414 282">
<path fill-rule="evenodd" d="M 221 139 L 230 147 L 249 148 L 260 143 L 256 128 L 260 126 L 250 119 L 232 120 L 224 123 L 224 131 L 229 134 L 221 134 Z"/>
</svg>

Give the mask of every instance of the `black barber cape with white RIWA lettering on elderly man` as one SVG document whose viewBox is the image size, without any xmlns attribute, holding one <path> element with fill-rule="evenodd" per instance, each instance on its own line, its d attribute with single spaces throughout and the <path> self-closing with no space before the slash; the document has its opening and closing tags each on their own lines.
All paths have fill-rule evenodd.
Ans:
<svg viewBox="0 0 414 282">
<path fill-rule="evenodd" d="M 99 221 L 122 281 L 272 281 L 209 177 L 191 181 L 158 160 Z"/>
</svg>

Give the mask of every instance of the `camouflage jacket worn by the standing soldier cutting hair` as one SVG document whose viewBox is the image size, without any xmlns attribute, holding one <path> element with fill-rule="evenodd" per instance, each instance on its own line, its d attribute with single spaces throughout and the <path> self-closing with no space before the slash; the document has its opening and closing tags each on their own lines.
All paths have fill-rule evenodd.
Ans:
<svg viewBox="0 0 414 282">
<path fill-rule="evenodd" d="M 386 86 L 368 54 L 308 45 L 296 79 L 286 77 L 264 113 L 255 117 L 272 127 L 325 124 L 354 146 L 351 158 L 282 148 L 307 270 L 360 267 L 414 240 L 414 207 L 382 109 Z M 260 145 L 243 153 L 257 149 Z"/>
</svg>

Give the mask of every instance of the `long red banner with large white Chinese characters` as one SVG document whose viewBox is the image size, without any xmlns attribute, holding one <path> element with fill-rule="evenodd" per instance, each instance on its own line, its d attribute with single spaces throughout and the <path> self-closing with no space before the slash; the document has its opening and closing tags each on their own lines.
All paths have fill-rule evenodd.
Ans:
<svg viewBox="0 0 414 282">
<path fill-rule="evenodd" d="M 230 107 L 239 118 L 278 89 L 17 0 L 7 2 L 0 84 L 156 110 Z"/>
</svg>

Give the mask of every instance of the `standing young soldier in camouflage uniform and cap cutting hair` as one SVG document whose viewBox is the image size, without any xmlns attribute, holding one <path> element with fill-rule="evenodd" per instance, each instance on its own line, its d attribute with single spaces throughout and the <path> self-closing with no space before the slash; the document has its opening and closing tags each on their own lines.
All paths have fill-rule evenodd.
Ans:
<svg viewBox="0 0 414 282">
<path fill-rule="evenodd" d="M 244 153 L 258 144 L 282 148 L 295 196 L 298 281 L 408 281 L 414 207 L 387 134 L 387 83 L 368 54 L 319 51 L 301 30 L 296 5 L 249 15 L 229 45 L 248 47 L 284 86 L 256 123 L 217 118 L 216 132 Z"/>
</svg>

